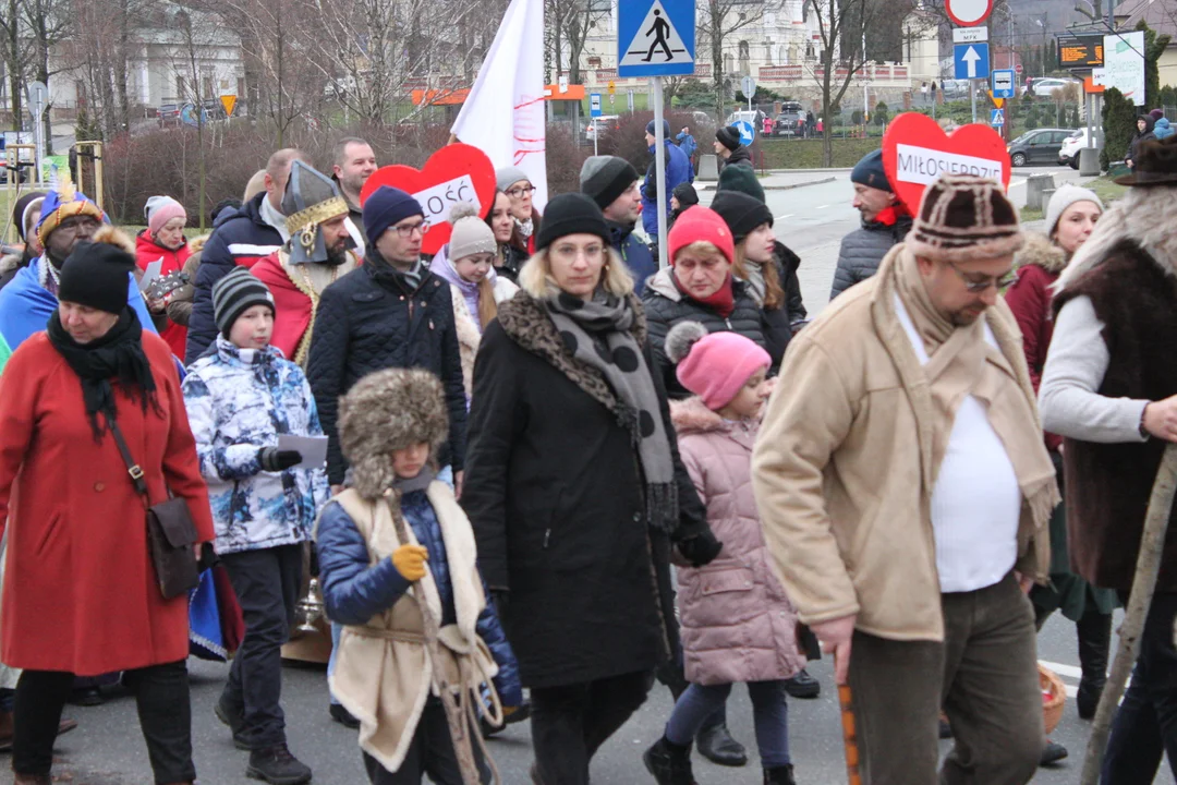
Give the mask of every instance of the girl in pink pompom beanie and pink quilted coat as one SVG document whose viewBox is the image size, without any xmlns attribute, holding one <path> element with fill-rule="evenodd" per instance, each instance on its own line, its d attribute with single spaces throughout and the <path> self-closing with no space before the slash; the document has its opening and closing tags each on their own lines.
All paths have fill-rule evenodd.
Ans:
<svg viewBox="0 0 1177 785">
<path fill-rule="evenodd" d="M 765 785 L 794 785 L 785 679 L 805 665 L 797 611 L 770 566 L 752 495 L 752 447 L 771 392 L 771 359 L 732 332 L 676 325 L 666 354 L 694 398 L 671 403 L 678 448 L 707 524 L 724 544 L 705 567 L 678 568 L 683 658 L 691 686 L 643 759 L 659 785 L 694 781 L 691 743 L 732 685 L 746 683 Z"/>
</svg>

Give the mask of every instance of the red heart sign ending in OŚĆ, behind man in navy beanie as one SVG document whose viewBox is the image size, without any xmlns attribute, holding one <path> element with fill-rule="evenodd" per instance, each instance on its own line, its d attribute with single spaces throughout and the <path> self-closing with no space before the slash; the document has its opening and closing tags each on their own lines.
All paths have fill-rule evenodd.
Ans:
<svg viewBox="0 0 1177 785">
<path fill-rule="evenodd" d="M 394 164 L 381 166 L 364 184 L 360 207 L 383 185 L 413 194 L 425 211 L 428 228 L 421 239 L 421 253 L 434 254 L 450 241 L 450 208 L 459 201 L 478 207 L 486 218 L 494 206 L 494 165 L 486 153 L 471 145 L 446 145 L 425 161 L 425 168 Z M 375 241 L 375 238 L 368 238 Z"/>
</svg>

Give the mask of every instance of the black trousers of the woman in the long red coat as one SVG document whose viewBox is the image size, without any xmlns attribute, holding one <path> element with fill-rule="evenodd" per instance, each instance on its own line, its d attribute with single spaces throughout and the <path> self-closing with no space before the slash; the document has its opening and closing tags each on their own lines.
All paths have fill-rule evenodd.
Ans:
<svg viewBox="0 0 1177 785">
<path fill-rule="evenodd" d="M 16 683 L 13 717 L 12 769 L 18 774 L 48 774 L 53 741 L 61 710 L 73 690 L 73 673 L 25 671 Z M 126 671 L 124 685 L 135 696 L 139 725 L 155 781 L 189 783 L 197 778 L 192 764 L 192 704 L 188 667 L 184 660 Z"/>
</svg>

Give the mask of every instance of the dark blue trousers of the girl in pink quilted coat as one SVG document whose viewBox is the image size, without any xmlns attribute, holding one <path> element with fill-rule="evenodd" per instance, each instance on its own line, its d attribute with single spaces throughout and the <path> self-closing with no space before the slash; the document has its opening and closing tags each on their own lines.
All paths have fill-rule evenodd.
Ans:
<svg viewBox="0 0 1177 785">
<path fill-rule="evenodd" d="M 679 746 L 689 746 L 694 736 L 718 709 L 727 703 L 732 685 L 716 684 L 701 686 L 692 684 L 674 704 L 666 723 L 666 738 Z M 789 758 L 789 704 L 785 699 L 784 681 L 750 681 L 747 693 L 752 698 L 752 716 L 756 720 L 756 744 L 765 769 L 787 766 Z"/>
</svg>

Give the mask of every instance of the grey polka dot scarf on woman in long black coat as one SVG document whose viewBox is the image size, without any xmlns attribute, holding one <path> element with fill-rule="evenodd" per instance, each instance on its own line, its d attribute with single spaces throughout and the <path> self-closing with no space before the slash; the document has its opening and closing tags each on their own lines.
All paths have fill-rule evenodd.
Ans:
<svg viewBox="0 0 1177 785">
<path fill-rule="evenodd" d="M 646 480 L 646 514 L 661 531 L 678 526 L 678 493 L 670 438 L 660 417 L 653 378 L 633 339 L 629 300 L 598 291 L 585 302 L 560 293 L 545 301 L 572 357 L 597 368 L 618 399 L 618 420 L 633 435 Z"/>
</svg>

